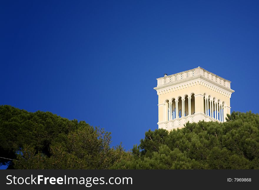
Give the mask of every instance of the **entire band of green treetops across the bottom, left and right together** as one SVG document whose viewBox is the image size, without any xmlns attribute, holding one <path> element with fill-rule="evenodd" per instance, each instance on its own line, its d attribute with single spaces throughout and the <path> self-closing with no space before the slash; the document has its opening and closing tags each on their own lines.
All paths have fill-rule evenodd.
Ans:
<svg viewBox="0 0 259 190">
<path fill-rule="evenodd" d="M 0 164 L 9 169 L 259 169 L 259 115 L 251 112 L 149 130 L 131 152 L 111 148 L 104 129 L 50 112 L 0 106 L 0 129 Z"/>
</svg>

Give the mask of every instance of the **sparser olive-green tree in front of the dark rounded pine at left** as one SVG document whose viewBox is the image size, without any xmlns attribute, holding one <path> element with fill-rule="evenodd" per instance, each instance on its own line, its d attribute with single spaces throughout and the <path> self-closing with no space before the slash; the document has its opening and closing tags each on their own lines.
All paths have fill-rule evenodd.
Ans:
<svg viewBox="0 0 259 190">
<path fill-rule="evenodd" d="M 82 121 L 80 121 L 82 122 Z M 82 122 L 82 125 L 84 122 Z M 65 144 L 54 142 L 50 155 L 35 154 L 29 146 L 17 154 L 16 169 L 108 169 L 125 154 L 121 146 L 109 147 L 110 133 L 91 126 L 68 134 Z"/>
</svg>

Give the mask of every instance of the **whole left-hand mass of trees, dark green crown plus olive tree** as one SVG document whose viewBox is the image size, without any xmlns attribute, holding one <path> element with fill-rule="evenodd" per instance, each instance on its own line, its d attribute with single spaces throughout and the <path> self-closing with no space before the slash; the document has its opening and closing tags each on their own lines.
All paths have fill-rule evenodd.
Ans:
<svg viewBox="0 0 259 190">
<path fill-rule="evenodd" d="M 9 169 L 108 169 L 128 153 L 110 133 L 50 112 L 0 106 L 1 164 Z"/>
</svg>

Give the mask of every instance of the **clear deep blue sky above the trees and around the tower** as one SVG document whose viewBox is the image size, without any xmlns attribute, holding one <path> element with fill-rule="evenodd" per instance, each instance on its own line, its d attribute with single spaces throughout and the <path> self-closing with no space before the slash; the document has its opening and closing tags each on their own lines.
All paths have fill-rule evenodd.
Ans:
<svg viewBox="0 0 259 190">
<path fill-rule="evenodd" d="M 198 66 L 258 113 L 258 1 L 1 1 L 0 104 L 112 132 L 126 150 L 157 129 L 153 89 Z"/>
</svg>

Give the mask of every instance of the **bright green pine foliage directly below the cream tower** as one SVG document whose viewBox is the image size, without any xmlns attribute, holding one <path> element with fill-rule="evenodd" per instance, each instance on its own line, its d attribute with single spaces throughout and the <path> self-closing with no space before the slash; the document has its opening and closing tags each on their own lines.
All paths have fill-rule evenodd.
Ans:
<svg viewBox="0 0 259 190">
<path fill-rule="evenodd" d="M 145 133 L 113 169 L 259 169 L 259 115 L 233 112 L 227 122 L 187 123 Z"/>
</svg>

